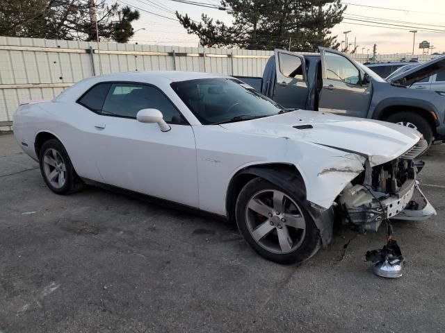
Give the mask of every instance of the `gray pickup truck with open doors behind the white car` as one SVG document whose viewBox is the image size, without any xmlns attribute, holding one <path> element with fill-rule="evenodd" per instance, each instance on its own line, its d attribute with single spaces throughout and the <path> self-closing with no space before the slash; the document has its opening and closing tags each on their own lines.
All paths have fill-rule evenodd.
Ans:
<svg viewBox="0 0 445 333">
<path fill-rule="evenodd" d="M 302 55 L 277 49 L 263 78 L 238 78 L 286 108 L 399 123 L 419 130 L 428 144 L 445 139 L 445 92 L 407 89 L 443 71 L 445 56 L 386 81 L 344 53 L 319 50 Z"/>
</svg>

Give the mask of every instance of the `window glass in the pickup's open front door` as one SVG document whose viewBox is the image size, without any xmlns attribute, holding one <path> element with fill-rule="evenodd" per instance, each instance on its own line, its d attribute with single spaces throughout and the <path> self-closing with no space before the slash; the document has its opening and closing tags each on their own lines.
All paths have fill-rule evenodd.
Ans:
<svg viewBox="0 0 445 333">
<path fill-rule="evenodd" d="M 360 74 L 357 67 L 347 58 L 337 53 L 325 53 L 326 78 L 330 80 L 341 80 L 350 85 L 358 85 Z"/>
</svg>

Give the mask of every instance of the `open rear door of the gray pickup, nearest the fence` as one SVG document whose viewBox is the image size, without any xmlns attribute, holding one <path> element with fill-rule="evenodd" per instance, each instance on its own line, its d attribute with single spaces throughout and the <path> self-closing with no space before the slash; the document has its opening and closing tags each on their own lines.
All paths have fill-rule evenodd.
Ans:
<svg viewBox="0 0 445 333">
<path fill-rule="evenodd" d="M 305 58 L 280 49 L 274 52 L 277 79 L 273 100 L 284 108 L 305 109 L 309 94 Z"/>
</svg>

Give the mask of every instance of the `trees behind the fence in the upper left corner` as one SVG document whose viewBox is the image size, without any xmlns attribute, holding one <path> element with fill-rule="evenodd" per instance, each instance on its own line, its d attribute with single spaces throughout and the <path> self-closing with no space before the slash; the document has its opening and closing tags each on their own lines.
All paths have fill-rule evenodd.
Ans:
<svg viewBox="0 0 445 333">
<path fill-rule="evenodd" d="M 96 0 L 100 40 L 128 42 L 139 12 Z M 59 40 L 96 40 L 88 0 L 0 0 L 0 35 Z"/>
</svg>

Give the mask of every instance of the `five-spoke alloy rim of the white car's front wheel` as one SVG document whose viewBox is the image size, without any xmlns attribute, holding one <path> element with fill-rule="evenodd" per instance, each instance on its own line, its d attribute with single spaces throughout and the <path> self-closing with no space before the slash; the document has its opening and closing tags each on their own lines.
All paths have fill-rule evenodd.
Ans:
<svg viewBox="0 0 445 333">
<path fill-rule="evenodd" d="M 272 253 L 290 253 L 305 239 L 306 221 L 302 210 L 276 189 L 259 191 L 250 198 L 245 221 L 257 244 Z"/>
</svg>

